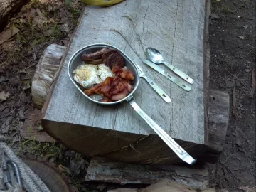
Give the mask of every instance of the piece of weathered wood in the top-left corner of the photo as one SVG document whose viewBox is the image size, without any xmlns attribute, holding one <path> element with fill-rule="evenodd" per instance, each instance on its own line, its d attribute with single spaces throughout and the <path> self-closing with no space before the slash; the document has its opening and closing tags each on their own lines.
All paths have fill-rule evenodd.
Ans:
<svg viewBox="0 0 256 192">
<path fill-rule="evenodd" d="M 0 26 L 3 26 L 9 16 L 21 9 L 26 2 L 27 0 L 0 0 Z"/>
</svg>

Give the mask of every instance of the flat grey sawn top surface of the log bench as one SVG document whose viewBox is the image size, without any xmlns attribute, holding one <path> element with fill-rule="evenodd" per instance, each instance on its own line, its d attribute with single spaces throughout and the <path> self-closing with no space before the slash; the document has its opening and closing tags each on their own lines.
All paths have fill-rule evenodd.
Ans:
<svg viewBox="0 0 256 192">
<path fill-rule="evenodd" d="M 68 78 L 67 64 L 76 50 L 92 43 L 110 43 L 123 50 L 166 92 L 170 105 L 144 80 L 134 93 L 136 102 L 171 137 L 205 144 L 203 105 L 204 1 L 124 1 L 107 8 L 86 7 L 75 32 L 43 119 L 97 129 L 154 134 L 126 103 L 102 107 L 86 100 Z M 172 65 L 195 83 L 185 92 L 142 64 L 144 50 L 159 49 Z M 164 66 L 163 66 L 164 68 Z M 174 74 L 173 74 L 174 75 Z M 46 128 L 48 132 L 53 127 Z"/>
</svg>

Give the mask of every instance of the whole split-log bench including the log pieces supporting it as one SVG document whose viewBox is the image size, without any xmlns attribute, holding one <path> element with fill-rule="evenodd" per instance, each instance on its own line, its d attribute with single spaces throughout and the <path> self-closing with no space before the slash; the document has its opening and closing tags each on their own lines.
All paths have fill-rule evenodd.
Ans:
<svg viewBox="0 0 256 192">
<path fill-rule="evenodd" d="M 210 1 L 124 1 L 108 8 L 86 7 L 68 48 L 51 45 L 46 49 L 46 59 L 38 64 L 36 86 L 32 85 L 33 100 L 39 109 L 44 104 L 41 123 L 54 138 L 47 141 L 56 139 L 80 154 L 94 156 L 86 181 L 149 184 L 171 178 L 194 188 L 208 187 L 206 168 L 166 165 L 181 161 L 125 104 L 106 108 L 82 97 L 68 79 L 67 64 L 76 50 L 91 43 L 110 43 L 124 50 L 172 99 L 171 104 L 164 103 L 142 80 L 135 95 L 142 109 L 193 157 L 214 163 L 225 144 L 229 97 L 227 92 L 208 90 L 209 14 Z M 161 50 L 166 60 L 195 79 L 191 92 L 142 64 L 148 46 Z M 60 68 L 51 68 L 60 58 Z M 46 72 L 50 78 L 45 78 Z M 45 85 L 48 88 L 38 93 Z M 47 137 L 33 129 L 33 139 Z M 31 138 L 27 127 L 23 137 Z"/>
</svg>

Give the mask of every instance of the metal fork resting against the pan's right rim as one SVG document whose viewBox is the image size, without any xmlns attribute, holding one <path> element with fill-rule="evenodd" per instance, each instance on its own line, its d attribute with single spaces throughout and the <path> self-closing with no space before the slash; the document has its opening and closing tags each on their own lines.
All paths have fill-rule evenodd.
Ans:
<svg viewBox="0 0 256 192">
<path fill-rule="evenodd" d="M 153 80 L 151 80 L 151 78 L 146 76 L 146 74 L 144 73 L 142 68 L 137 63 L 135 63 L 135 65 L 137 66 L 137 69 L 139 70 L 139 77 L 144 78 L 146 80 L 146 82 L 149 83 L 149 85 L 158 93 L 158 95 L 160 95 L 160 97 L 165 102 L 171 102 L 171 98 L 166 94 L 166 92 L 164 92 L 164 90 L 162 90 L 158 85 L 156 85 L 156 82 L 154 82 Z"/>
</svg>

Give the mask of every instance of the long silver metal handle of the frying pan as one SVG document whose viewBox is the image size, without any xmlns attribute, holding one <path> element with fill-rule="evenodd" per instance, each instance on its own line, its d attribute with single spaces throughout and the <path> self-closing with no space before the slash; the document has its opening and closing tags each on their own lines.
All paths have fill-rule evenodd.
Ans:
<svg viewBox="0 0 256 192">
<path fill-rule="evenodd" d="M 130 96 L 127 98 L 127 101 L 130 105 L 134 108 L 134 110 L 144 119 L 144 121 L 149 124 L 149 126 L 154 129 L 154 132 L 163 139 L 163 141 L 174 151 L 174 153 L 183 161 L 185 161 L 188 164 L 195 164 L 196 159 L 193 159 L 192 156 L 190 156 L 179 144 L 177 144 L 174 139 L 172 139 L 169 134 L 167 134 L 164 129 L 161 129 L 156 122 L 154 122 L 153 119 L 149 117 L 140 107 L 137 105 L 137 103 L 134 101 L 133 97 Z"/>
</svg>

